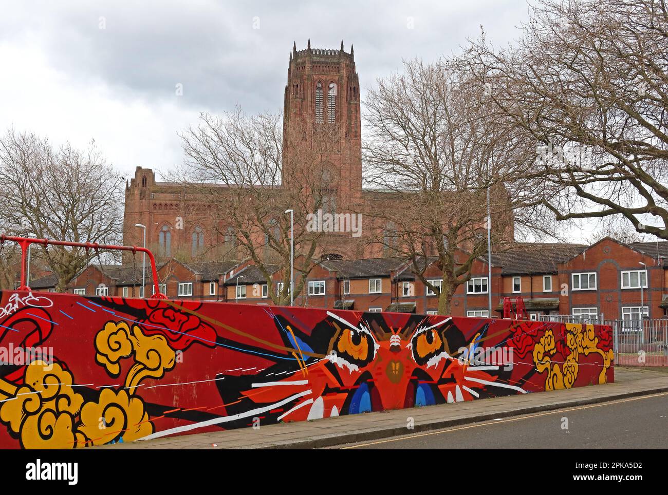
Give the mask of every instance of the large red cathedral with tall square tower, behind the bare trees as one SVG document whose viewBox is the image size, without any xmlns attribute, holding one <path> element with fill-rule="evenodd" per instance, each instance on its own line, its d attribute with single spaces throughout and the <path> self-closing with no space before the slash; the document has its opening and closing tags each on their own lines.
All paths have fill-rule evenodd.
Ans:
<svg viewBox="0 0 668 495">
<path fill-rule="evenodd" d="M 353 47 L 347 52 L 343 41 L 339 49 L 311 48 L 297 50 L 296 43 L 289 56 L 285 86 L 283 125 L 283 184 L 289 185 L 289 177 L 295 176 L 290 167 L 304 161 L 291 160 L 291 153 L 299 152 L 287 145 L 289 141 L 311 144 L 317 136 L 314 129 L 335 129 L 321 161 L 325 173 L 331 176 L 327 188 L 327 209 L 345 213 L 353 205 L 369 207 L 381 201 L 378 191 L 363 191 L 361 161 L 361 117 L 359 105 L 359 77 L 355 67 Z M 313 125 L 313 124 L 316 125 Z M 318 125 L 322 124 L 322 125 Z M 297 134 L 299 133 L 299 134 Z M 307 135 L 303 135 L 307 134 Z M 306 144 L 305 144 L 306 145 Z M 182 185 L 158 182 L 151 169 L 137 167 L 135 176 L 126 185 L 124 215 L 124 243 L 141 245 L 142 228 L 146 225 L 146 245 L 162 256 L 197 256 L 207 252 L 215 258 L 212 246 L 224 246 L 225 258 L 241 257 L 230 247 L 234 245 L 234 231 L 217 232 L 210 225 L 210 217 L 195 210 L 190 212 L 188 196 Z M 358 210 L 359 211 L 359 210 Z M 365 225 L 368 229 L 370 225 Z M 346 237 L 350 237 L 347 235 Z M 377 248 L 355 242 L 355 246 L 343 244 L 339 248 L 345 258 L 376 256 Z M 349 243 L 350 244 L 350 243 Z"/>
</svg>

